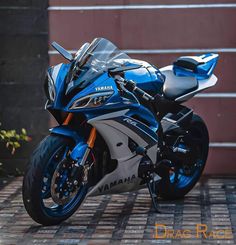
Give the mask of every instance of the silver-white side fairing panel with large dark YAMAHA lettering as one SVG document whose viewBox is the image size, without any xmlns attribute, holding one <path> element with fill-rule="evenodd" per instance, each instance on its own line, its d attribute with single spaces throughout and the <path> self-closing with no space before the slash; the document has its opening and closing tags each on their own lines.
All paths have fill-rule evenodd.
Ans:
<svg viewBox="0 0 236 245">
<path fill-rule="evenodd" d="M 113 120 L 124 115 L 127 110 L 109 113 L 89 120 L 107 143 L 112 159 L 118 161 L 117 168 L 105 175 L 88 193 L 88 195 L 103 195 L 119 193 L 143 188 L 138 177 L 139 163 L 143 156 L 132 152 L 128 146 L 131 138 L 142 147 L 148 146 L 147 142 L 137 133 L 122 123 Z M 150 147 L 147 154 L 156 160 L 157 145 Z"/>
</svg>

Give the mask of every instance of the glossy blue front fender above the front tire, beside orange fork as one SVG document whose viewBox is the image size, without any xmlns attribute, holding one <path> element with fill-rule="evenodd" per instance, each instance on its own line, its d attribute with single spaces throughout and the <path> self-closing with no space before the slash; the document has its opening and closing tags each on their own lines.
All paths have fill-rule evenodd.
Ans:
<svg viewBox="0 0 236 245">
<path fill-rule="evenodd" d="M 76 162 L 81 162 L 83 156 L 88 148 L 88 145 L 81 135 L 78 132 L 72 130 L 68 126 L 57 126 L 55 128 L 50 129 L 51 134 L 61 135 L 64 137 L 71 138 L 74 142 L 74 148 L 70 153 L 70 157 L 72 160 Z"/>
</svg>

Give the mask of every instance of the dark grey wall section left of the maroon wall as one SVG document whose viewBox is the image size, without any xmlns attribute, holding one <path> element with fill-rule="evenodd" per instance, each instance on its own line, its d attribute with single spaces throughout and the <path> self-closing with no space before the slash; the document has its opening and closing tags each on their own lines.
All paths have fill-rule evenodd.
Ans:
<svg viewBox="0 0 236 245">
<path fill-rule="evenodd" d="M 8 173 L 22 171 L 33 148 L 47 133 L 43 81 L 48 66 L 48 1 L 0 1 L 0 122 L 26 128 L 32 137 L 14 156 L 0 146 Z"/>
</svg>

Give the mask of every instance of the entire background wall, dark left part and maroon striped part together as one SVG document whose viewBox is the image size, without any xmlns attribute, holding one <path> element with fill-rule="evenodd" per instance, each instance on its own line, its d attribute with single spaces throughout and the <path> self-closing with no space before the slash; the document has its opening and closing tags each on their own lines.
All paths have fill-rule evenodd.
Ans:
<svg viewBox="0 0 236 245">
<path fill-rule="evenodd" d="M 209 49 L 220 54 L 217 86 L 187 104 L 209 127 L 205 173 L 236 173 L 235 0 L 50 0 L 49 5 L 47 10 L 48 0 L 0 1 L 0 122 L 6 129 L 26 128 L 33 139 L 14 157 L 0 145 L 0 162 L 8 172 L 23 170 L 48 133 L 50 118 L 43 109 L 48 43 L 55 40 L 76 50 L 85 41 L 105 37 L 131 57 L 158 67 Z M 51 65 L 64 61 L 51 49 L 49 58 Z"/>
</svg>

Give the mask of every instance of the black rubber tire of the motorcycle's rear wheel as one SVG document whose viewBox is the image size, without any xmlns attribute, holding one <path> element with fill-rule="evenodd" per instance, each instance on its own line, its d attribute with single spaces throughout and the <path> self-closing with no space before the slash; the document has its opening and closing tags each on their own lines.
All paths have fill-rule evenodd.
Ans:
<svg viewBox="0 0 236 245">
<path fill-rule="evenodd" d="M 192 121 L 189 126 L 189 131 L 195 134 L 197 138 L 201 141 L 198 147 L 200 151 L 198 154 L 198 159 L 201 159 L 200 167 L 193 173 L 192 178 L 187 179 L 186 184 L 181 184 L 181 177 L 176 183 L 171 182 L 169 171 L 166 172 L 159 184 L 160 196 L 166 200 L 173 200 L 178 198 L 183 198 L 198 182 L 201 174 L 206 165 L 208 149 L 209 149 L 209 135 L 206 124 L 198 115 L 193 115 Z M 183 183 L 185 183 L 183 182 Z"/>
</svg>

